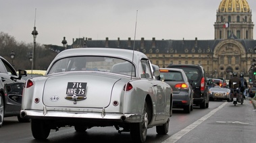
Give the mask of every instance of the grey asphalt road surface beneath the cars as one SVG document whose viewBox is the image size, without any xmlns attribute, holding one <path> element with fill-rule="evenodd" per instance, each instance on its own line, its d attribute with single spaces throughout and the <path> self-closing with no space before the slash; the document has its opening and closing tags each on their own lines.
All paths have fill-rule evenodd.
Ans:
<svg viewBox="0 0 256 143">
<path fill-rule="evenodd" d="M 155 128 L 148 130 L 146 142 L 256 142 L 256 111 L 251 101 L 234 106 L 232 102 L 210 101 L 208 109 L 194 110 L 187 114 L 174 110 L 170 117 L 169 132 L 157 135 Z M 47 140 L 34 140 L 30 123 L 19 123 L 17 117 L 5 117 L 0 128 L 0 142 L 132 142 L 130 134 L 118 134 L 113 127 L 97 127 L 84 133 L 73 127 L 51 130 Z"/>
</svg>

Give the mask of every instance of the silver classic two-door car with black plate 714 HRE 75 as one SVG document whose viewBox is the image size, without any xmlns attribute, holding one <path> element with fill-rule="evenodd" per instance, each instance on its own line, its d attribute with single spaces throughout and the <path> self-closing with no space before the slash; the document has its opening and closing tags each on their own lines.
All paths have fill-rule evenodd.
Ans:
<svg viewBox="0 0 256 143">
<path fill-rule="evenodd" d="M 74 126 L 114 126 L 145 142 L 147 128 L 167 134 L 172 88 L 159 81 L 159 68 L 142 52 L 117 48 L 74 48 L 60 52 L 45 77 L 26 81 L 21 117 L 31 119 L 32 135 Z M 121 130 L 122 128 L 122 130 Z"/>
</svg>

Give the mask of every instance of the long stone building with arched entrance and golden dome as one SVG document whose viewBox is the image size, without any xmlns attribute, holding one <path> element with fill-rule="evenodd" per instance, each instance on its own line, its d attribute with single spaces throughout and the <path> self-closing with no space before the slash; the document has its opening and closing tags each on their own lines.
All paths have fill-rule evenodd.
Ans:
<svg viewBox="0 0 256 143">
<path fill-rule="evenodd" d="M 228 27 L 227 27 L 228 26 Z M 68 48 L 106 47 L 138 50 L 145 53 L 153 64 L 201 64 L 207 77 L 230 78 L 233 72 L 250 76 L 256 57 L 253 40 L 253 21 L 246 0 L 222 0 L 217 8 L 213 40 L 92 40 L 73 39 Z"/>
</svg>

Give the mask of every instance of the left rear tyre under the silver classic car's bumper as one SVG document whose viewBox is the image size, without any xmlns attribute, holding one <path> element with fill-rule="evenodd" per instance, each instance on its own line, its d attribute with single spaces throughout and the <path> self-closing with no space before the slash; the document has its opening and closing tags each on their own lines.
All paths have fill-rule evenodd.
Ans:
<svg viewBox="0 0 256 143">
<path fill-rule="evenodd" d="M 35 139 L 45 140 L 48 138 L 51 128 L 43 120 L 31 120 L 31 130 Z"/>
</svg>

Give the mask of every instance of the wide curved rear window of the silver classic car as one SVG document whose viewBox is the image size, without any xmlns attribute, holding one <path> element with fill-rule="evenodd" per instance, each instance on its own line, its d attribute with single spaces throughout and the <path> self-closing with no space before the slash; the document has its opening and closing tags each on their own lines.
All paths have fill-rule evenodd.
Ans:
<svg viewBox="0 0 256 143">
<path fill-rule="evenodd" d="M 69 71 L 102 71 L 135 77 L 134 65 L 127 60 L 104 56 L 72 56 L 57 60 L 49 74 Z"/>
</svg>

